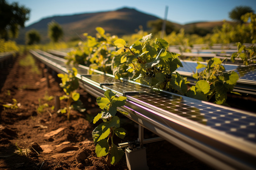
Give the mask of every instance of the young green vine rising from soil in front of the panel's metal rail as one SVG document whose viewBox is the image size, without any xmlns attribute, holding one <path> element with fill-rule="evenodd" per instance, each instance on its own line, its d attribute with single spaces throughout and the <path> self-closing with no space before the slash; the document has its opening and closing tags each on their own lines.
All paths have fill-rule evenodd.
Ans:
<svg viewBox="0 0 256 170">
<path fill-rule="evenodd" d="M 111 90 L 107 90 L 104 93 L 105 97 L 98 97 L 97 103 L 102 109 L 93 119 L 93 123 L 96 123 L 99 119 L 103 120 L 103 123 L 98 125 L 92 132 L 93 141 L 96 145 L 96 155 L 98 157 L 106 156 L 107 165 L 116 164 L 124 155 L 124 151 L 114 144 L 114 135 L 121 139 L 124 139 L 125 130 L 120 128 L 120 119 L 116 116 L 116 111 L 127 115 L 127 112 L 117 109 L 125 105 L 126 97 L 115 96 Z"/>
</svg>

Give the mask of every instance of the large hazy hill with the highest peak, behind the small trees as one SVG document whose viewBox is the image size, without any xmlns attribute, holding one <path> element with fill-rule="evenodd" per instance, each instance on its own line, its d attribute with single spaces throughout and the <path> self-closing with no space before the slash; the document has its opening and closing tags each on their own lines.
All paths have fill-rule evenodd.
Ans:
<svg viewBox="0 0 256 170">
<path fill-rule="evenodd" d="M 157 17 L 139 12 L 135 9 L 122 8 L 115 11 L 84 13 L 77 15 L 54 16 L 44 18 L 37 23 L 34 23 L 26 28 L 20 30 L 20 34 L 16 42 L 18 44 L 25 43 L 26 31 L 37 29 L 42 36 L 41 43 L 49 42 L 47 37 L 48 23 L 55 20 L 59 23 L 64 31 L 64 41 L 79 38 L 87 32 L 89 35 L 96 33 L 95 28 L 100 26 L 106 30 L 107 33 L 113 35 L 124 35 L 135 33 L 135 29 L 143 26 L 147 30 L 147 22 L 149 20 L 156 20 Z"/>
</svg>

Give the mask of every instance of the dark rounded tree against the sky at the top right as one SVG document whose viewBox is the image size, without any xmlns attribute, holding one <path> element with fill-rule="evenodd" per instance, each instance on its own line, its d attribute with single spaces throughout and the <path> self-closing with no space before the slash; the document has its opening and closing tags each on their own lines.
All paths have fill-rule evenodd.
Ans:
<svg viewBox="0 0 256 170">
<path fill-rule="evenodd" d="M 247 12 L 254 12 L 254 10 L 248 6 L 235 7 L 234 9 L 232 9 L 232 11 L 229 12 L 229 18 L 239 21 L 242 24 L 243 20 L 241 19 L 241 16 L 246 14 Z"/>
</svg>

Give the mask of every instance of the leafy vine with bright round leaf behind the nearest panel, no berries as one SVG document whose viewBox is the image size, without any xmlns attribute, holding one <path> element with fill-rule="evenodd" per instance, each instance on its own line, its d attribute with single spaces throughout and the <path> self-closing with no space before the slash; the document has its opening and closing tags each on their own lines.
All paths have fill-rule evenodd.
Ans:
<svg viewBox="0 0 256 170">
<path fill-rule="evenodd" d="M 219 58 L 211 59 L 208 61 L 207 66 L 197 62 L 198 66 L 196 67 L 196 73 L 193 74 L 193 78 L 199 81 L 190 88 L 186 96 L 204 101 L 210 101 L 215 96 L 214 103 L 225 104 L 227 92 L 236 93 L 232 92 L 232 90 L 239 77 L 234 71 L 225 72 L 224 66 L 221 65 L 222 62 Z M 205 69 L 198 73 L 197 69 L 201 68 Z"/>
</svg>

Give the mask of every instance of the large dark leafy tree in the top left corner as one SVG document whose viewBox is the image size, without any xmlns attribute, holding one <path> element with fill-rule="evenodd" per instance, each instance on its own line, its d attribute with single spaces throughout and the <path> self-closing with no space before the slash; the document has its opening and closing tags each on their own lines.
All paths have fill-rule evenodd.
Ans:
<svg viewBox="0 0 256 170">
<path fill-rule="evenodd" d="M 24 28 L 24 23 L 29 19 L 30 10 L 17 2 L 8 4 L 5 0 L 0 0 L 0 36 L 8 40 L 9 36 L 16 38 L 19 28 Z"/>
</svg>

